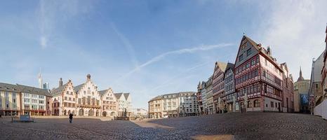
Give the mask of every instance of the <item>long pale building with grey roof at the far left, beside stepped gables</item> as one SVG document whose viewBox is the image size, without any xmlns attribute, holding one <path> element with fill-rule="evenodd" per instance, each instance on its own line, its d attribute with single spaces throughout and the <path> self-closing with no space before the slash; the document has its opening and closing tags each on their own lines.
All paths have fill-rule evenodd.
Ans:
<svg viewBox="0 0 327 140">
<path fill-rule="evenodd" d="M 4 116 L 48 115 L 48 90 L 27 85 L 0 83 L 0 113 Z"/>
</svg>

